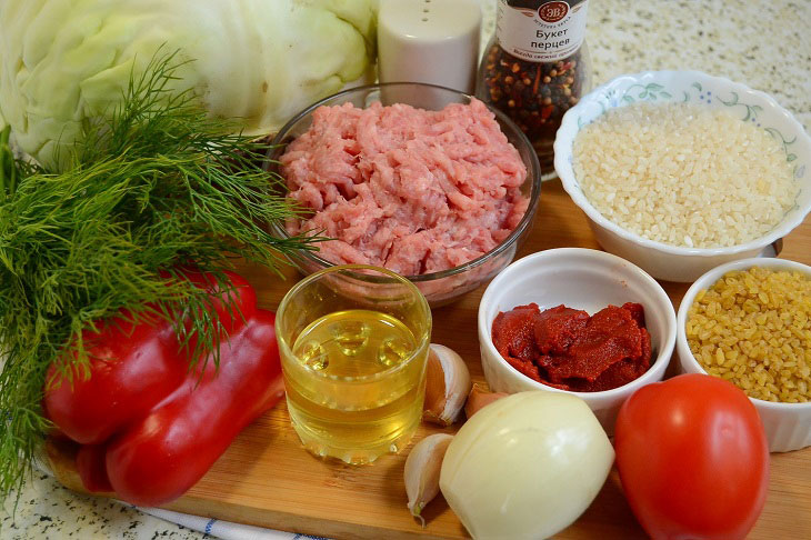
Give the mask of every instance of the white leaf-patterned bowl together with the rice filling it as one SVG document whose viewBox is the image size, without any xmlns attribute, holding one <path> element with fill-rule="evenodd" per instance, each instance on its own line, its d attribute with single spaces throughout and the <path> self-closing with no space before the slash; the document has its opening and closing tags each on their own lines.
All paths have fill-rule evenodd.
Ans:
<svg viewBox="0 0 811 540">
<path fill-rule="evenodd" d="M 758 257 L 811 211 L 802 126 L 765 93 L 699 71 L 597 88 L 563 117 L 554 154 L 598 242 L 657 279 Z"/>
</svg>

